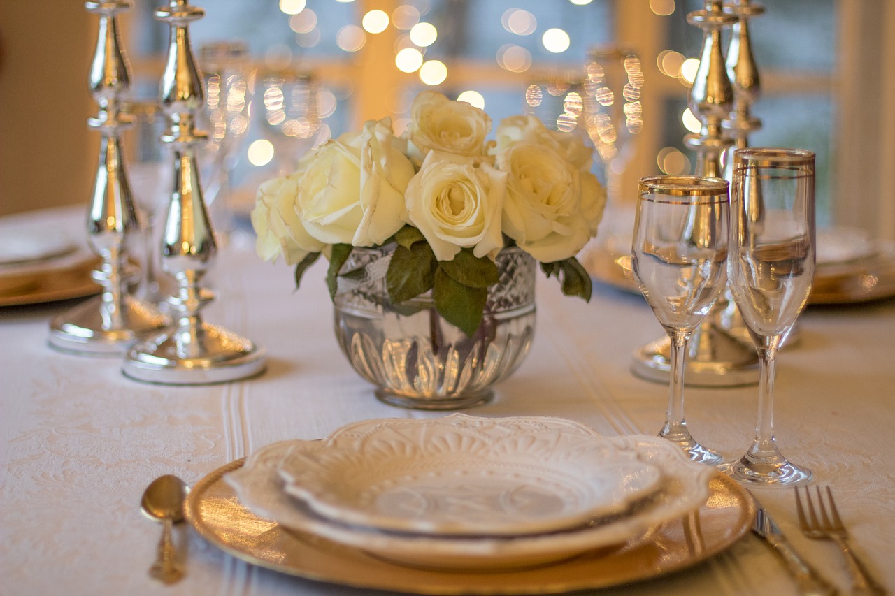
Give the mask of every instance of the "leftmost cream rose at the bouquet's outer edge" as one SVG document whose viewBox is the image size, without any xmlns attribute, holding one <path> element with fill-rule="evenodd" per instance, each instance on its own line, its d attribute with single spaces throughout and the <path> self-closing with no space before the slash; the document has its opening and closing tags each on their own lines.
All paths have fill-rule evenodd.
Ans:
<svg viewBox="0 0 895 596">
<path fill-rule="evenodd" d="M 251 210 L 251 226 L 257 234 L 255 250 L 261 259 L 276 260 L 282 254 L 286 263 L 294 265 L 309 252 L 318 252 L 324 247 L 307 233 L 295 212 L 301 175 L 300 169 L 268 180 L 258 189 L 255 208 Z"/>
</svg>

